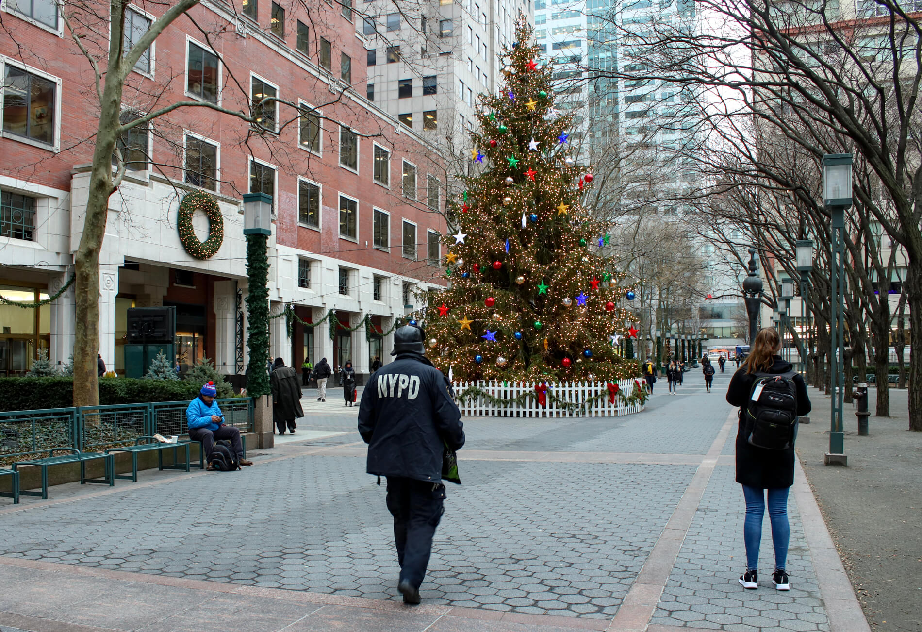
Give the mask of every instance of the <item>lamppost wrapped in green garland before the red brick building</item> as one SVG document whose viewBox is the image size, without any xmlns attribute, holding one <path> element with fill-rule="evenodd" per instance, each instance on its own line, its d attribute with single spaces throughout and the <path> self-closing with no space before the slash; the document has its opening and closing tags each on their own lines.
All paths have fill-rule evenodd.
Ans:
<svg viewBox="0 0 922 632">
<path fill-rule="evenodd" d="M 246 392 L 250 397 L 269 393 L 269 273 L 268 241 L 272 234 L 272 197 L 265 193 L 243 194 L 243 234 L 246 235 L 247 364 Z"/>
</svg>

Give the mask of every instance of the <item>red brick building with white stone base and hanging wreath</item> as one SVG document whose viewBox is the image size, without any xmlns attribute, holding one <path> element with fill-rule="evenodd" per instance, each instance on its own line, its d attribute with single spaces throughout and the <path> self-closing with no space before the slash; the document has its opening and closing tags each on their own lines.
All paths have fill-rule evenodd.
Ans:
<svg viewBox="0 0 922 632">
<path fill-rule="evenodd" d="M 419 303 L 416 292 L 443 283 L 444 161 L 366 99 L 366 48 L 349 6 L 240 2 L 193 7 L 157 38 L 125 86 L 123 122 L 179 101 L 203 106 L 174 110 L 119 143 L 122 160 L 114 162 L 124 163 L 124 179 L 110 198 L 100 254 L 100 353 L 121 374 L 127 308 L 175 305 L 180 364 L 207 357 L 222 373 L 242 374 L 241 196 L 262 191 L 274 206 L 273 312 L 290 303 L 307 322 L 334 309 L 346 325 L 366 314 L 373 323 L 371 340 L 364 328 L 339 328 L 330 340 L 326 325 L 296 325 L 289 338 L 285 319 L 276 318 L 270 354 L 295 365 L 305 356 L 334 365 L 351 359 L 365 374 L 371 357 L 386 362 L 390 352 L 392 336 L 380 333 Z M 52 294 L 73 275 L 99 100 L 65 22 L 100 58 L 110 28 L 80 6 L 0 6 L 0 292 L 15 300 Z M 107 3 L 98 8 L 107 16 Z M 124 45 L 164 8 L 134 3 Z M 261 102 L 266 97 L 278 101 Z M 249 113 L 253 103 L 264 129 L 232 114 Z M 212 194 L 221 210 L 223 242 L 207 259 L 191 256 L 177 230 L 191 191 Z M 193 225 L 204 241 L 204 214 Z M 0 376 L 26 370 L 40 348 L 66 363 L 74 309 L 73 288 L 36 310 L 0 305 Z"/>
</svg>

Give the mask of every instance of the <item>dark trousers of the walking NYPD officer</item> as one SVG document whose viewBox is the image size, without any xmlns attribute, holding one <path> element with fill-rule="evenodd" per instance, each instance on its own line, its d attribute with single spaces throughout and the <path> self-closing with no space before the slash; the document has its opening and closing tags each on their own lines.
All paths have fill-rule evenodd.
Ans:
<svg viewBox="0 0 922 632">
<path fill-rule="evenodd" d="M 432 536 L 444 513 L 445 486 L 387 477 L 387 510 L 394 516 L 394 543 L 400 580 L 420 588 L 429 566 Z"/>
</svg>

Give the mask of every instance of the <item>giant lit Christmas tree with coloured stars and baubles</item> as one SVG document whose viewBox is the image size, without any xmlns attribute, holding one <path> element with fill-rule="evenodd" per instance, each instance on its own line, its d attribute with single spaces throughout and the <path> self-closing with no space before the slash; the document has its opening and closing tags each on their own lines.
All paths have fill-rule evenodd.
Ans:
<svg viewBox="0 0 922 632">
<path fill-rule="evenodd" d="M 470 157 L 481 171 L 449 216 L 445 278 L 425 312 L 433 364 L 461 379 L 615 380 L 635 335 L 609 236 L 582 204 L 592 173 L 573 160 L 572 114 L 554 110 L 551 67 L 524 19 L 502 55 L 505 85 L 480 95 Z"/>
</svg>

